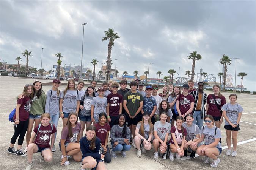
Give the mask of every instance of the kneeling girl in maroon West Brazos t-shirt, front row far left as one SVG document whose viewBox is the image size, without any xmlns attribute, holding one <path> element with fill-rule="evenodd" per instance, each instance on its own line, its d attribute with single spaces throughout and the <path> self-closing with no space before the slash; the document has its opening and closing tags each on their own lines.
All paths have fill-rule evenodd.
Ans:
<svg viewBox="0 0 256 170">
<path fill-rule="evenodd" d="M 41 115 L 41 124 L 39 124 L 32 132 L 32 136 L 28 145 L 28 167 L 26 170 L 31 170 L 34 167 L 32 157 L 34 153 L 41 152 L 40 162 L 50 162 L 52 160 L 52 147 L 55 132 L 57 131 L 55 126 L 50 124 L 50 114 L 44 113 Z"/>
</svg>

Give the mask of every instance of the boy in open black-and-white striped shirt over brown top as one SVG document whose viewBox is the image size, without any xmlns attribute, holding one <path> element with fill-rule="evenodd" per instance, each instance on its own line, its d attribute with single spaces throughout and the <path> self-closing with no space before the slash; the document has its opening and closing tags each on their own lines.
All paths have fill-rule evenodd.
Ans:
<svg viewBox="0 0 256 170">
<path fill-rule="evenodd" d="M 203 91 L 204 89 L 203 82 L 198 82 L 197 87 L 198 87 L 198 90 L 192 91 L 190 94 L 195 99 L 195 105 L 193 108 L 193 117 L 194 117 L 193 123 L 198 125 L 198 127 L 201 129 L 201 127 L 203 126 L 204 115 L 206 114 L 204 105 L 207 100 L 207 95 Z"/>
</svg>

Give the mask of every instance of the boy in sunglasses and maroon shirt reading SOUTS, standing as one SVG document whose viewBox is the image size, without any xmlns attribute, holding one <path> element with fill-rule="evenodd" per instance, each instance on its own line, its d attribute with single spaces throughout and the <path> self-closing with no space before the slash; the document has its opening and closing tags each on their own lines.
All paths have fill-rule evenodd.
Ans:
<svg viewBox="0 0 256 170">
<path fill-rule="evenodd" d="M 119 84 L 118 82 L 112 82 L 112 93 L 107 96 L 107 119 L 110 127 L 115 125 L 119 114 L 122 113 L 123 108 L 123 96 L 117 93 Z"/>
</svg>

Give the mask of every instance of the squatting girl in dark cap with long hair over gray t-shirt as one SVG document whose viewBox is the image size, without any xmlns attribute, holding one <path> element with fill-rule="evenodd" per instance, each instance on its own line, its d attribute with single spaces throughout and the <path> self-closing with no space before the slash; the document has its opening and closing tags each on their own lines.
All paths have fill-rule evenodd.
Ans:
<svg viewBox="0 0 256 170">
<path fill-rule="evenodd" d="M 146 150 L 151 150 L 151 140 L 153 134 L 154 125 L 151 122 L 150 114 L 144 111 L 142 121 L 138 122 L 135 130 L 134 143 L 137 148 L 137 156 L 141 157 L 142 153 L 146 153 Z M 140 144 L 142 143 L 142 148 L 140 150 Z"/>
</svg>

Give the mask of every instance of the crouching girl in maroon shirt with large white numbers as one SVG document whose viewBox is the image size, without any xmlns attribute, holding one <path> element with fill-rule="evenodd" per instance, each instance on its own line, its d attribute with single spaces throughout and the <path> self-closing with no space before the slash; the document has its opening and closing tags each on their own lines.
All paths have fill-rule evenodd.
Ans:
<svg viewBox="0 0 256 170">
<path fill-rule="evenodd" d="M 182 116 L 176 117 L 176 126 L 171 127 L 171 139 L 168 142 L 170 144 L 170 155 L 169 159 L 174 161 L 173 153 L 176 153 L 176 159 L 181 159 L 180 157 L 187 157 L 187 130 L 182 126 L 184 119 Z"/>
</svg>

